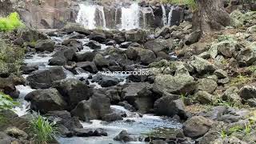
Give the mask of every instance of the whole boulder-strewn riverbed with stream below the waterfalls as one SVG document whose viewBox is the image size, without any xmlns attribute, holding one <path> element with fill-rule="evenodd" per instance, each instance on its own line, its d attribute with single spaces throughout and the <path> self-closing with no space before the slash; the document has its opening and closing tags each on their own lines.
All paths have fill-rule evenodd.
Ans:
<svg viewBox="0 0 256 144">
<path fill-rule="evenodd" d="M 0 75 L 0 89 L 20 103 L 0 112 L 0 143 L 29 142 L 33 111 L 57 123 L 53 143 L 256 142 L 256 13 L 230 17 L 232 26 L 201 39 L 191 22 L 2 34 L 26 58 L 21 75 Z"/>
</svg>

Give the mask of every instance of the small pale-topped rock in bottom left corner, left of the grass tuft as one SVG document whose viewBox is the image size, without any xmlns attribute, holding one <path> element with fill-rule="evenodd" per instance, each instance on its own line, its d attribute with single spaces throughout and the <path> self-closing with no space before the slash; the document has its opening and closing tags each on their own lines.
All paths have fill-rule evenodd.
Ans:
<svg viewBox="0 0 256 144">
<path fill-rule="evenodd" d="M 23 140 L 26 140 L 26 138 L 28 138 L 28 134 L 26 134 L 26 132 L 23 130 L 19 130 L 17 127 L 8 127 L 5 130 L 5 132 L 7 135 L 9 135 L 12 138 L 23 139 Z"/>
</svg>

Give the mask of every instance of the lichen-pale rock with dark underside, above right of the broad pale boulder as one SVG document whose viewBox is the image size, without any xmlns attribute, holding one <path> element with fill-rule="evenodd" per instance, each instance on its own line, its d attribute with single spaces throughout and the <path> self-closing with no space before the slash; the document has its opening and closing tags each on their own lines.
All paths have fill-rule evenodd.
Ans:
<svg viewBox="0 0 256 144">
<path fill-rule="evenodd" d="M 190 62 L 191 66 L 194 66 L 195 70 L 199 74 L 214 73 L 216 70 L 215 66 L 203 58 L 194 56 Z"/>
</svg>

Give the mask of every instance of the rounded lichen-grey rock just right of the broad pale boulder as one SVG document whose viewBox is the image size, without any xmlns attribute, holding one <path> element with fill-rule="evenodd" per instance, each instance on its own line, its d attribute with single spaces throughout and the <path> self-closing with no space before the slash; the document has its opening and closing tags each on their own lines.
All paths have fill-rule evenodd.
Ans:
<svg viewBox="0 0 256 144">
<path fill-rule="evenodd" d="M 202 78 L 198 80 L 198 90 L 206 91 L 209 94 L 212 94 L 216 90 L 218 84 L 212 79 Z"/>
</svg>

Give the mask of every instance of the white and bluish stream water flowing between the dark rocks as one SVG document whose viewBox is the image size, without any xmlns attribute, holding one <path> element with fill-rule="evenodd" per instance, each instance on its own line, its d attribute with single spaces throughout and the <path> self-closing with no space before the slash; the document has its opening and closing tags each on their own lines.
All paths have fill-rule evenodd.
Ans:
<svg viewBox="0 0 256 144">
<path fill-rule="evenodd" d="M 60 37 L 52 37 L 52 39 L 58 44 L 62 42 L 65 38 L 68 38 L 67 35 L 60 36 Z M 83 44 L 86 42 L 89 42 L 89 38 L 80 39 L 79 41 L 82 41 Z M 86 51 L 92 51 L 89 47 L 84 46 L 84 49 L 81 50 L 79 53 L 83 53 Z M 102 45 L 102 50 L 106 48 L 105 45 Z M 50 60 L 51 55 L 50 54 L 34 54 L 33 56 L 26 57 L 24 62 L 28 66 L 38 66 L 39 70 L 45 70 L 48 69 L 48 61 Z M 64 68 L 63 68 L 64 69 Z M 64 69 L 65 70 L 65 69 Z M 66 78 L 87 78 L 90 74 L 89 73 L 78 73 L 76 75 L 72 74 L 69 70 L 65 70 Z M 27 75 L 23 75 L 24 78 L 27 77 Z M 123 81 L 122 83 L 125 83 L 126 81 Z M 96 85 L 94 88 L 101 88 L 98 83 L 92 83 L 90 82 L 90 85 Z M 27 110 L 30 108 L 30 103 L 26 102 L 24 100 L 24 97 L 26 94 L 29 94 L 33 89 L 30 88 L 30 86 L 16 86 L 17 90 L 20 92 L 20 96 L 18 99 L 18 102 L 20 102 L 20 106 L 17 106 L 14 108 L 14 111 L 19 115 L 25 115 L 27 114 Z M 72 137 L 72 138 L 58 138 L 58 142 L 61 144 L 78 144 L 78 143 L 86 143 L 86 144 L 119 144 L 122 142 L 114 141 L 114 137 L 117 136 L 122 130 L 127 130 L 127 132 L 137 139 L 138 142 L 129 142 L 129 143 L 145 143 L 142 142 L 142 134 L 149 133 L 150 131 L 158 128 L 162 129 L 180 129 L 182 127 L 182 124 L 178 122 L 174 122 L 170 120 L 170 118 L 162 118 L 159 116 L 154 116 L 153 114 L 144 114 L 140 115 L 136 112 L 130 112 L 129 110 L 126 110 L 122 106 L 111 106 L 112 110 L 120 110 L 126 113 L 127 118 L 124 118 L 122 121 L 116 121 L 116 122 L 102 122 L 100 120 L 92 120 L 90 122 L 82 122 L 82 126 L 84 128 L 103 128 L 106 130 L 108 136 L 105 137 L 89 137 L 89 138 L 78 138 L 78 137 Z M 129 121 L 129 122 L 127 122 Z"/>
</svg>

